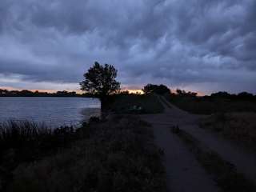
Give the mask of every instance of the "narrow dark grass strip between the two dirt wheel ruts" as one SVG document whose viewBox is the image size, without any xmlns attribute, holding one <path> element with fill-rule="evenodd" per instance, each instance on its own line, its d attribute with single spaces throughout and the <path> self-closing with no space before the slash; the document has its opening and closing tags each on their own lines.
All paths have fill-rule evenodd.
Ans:
<svg viewBox="0 0 256 192">
<path fill-rule="evenodd" d="M 173 127 L 171 129 L 178 137 L 186 143 L 190 151 L 198 159 L 198 162 L 205 170 L 213 176 L 214 181 L 218 186 L 226 192 L 254 192 L 256 186 L 243 174 L 237 172 L 234 165 L 223 160 L 217 153 L 204 146 L 192 135 L 187 134 L 184 130 Z"/>
</svg>

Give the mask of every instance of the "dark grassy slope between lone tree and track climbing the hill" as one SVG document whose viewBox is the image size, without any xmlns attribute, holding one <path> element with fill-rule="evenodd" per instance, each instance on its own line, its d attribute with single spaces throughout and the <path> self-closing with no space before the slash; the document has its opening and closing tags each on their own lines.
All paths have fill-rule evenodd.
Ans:
<svg viewBox="0 0 256 192">
<path fill-rule="evenodd" d="M 120 94 L 114 95 L 110 109 L 115 114 L 157 114 L 164 110 L 154 94 Z M 133 110 L 134 106 L 141 110 Z"/>
</svg>

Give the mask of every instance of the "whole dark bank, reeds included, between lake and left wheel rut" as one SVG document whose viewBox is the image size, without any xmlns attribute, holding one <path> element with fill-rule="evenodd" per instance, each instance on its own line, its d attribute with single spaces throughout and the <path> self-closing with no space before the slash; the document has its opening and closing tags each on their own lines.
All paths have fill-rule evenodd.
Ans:
<svg viewBox="0 0 256 192">
<path fill-rule="evenodd" d="M 0 130 L 2 191 L 165 191 L 161 152 L 134 116 L 93 118 L 78 130 L 30 122 Z"/>
</svg>

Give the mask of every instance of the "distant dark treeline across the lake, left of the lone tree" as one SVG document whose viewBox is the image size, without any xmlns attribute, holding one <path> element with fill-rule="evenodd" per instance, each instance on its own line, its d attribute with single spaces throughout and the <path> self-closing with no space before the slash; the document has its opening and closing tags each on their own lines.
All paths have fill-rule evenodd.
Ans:
<svg viewBox="0 0 256 192">
<path fill-rule="evenodd" d="M 57 91 L 56 93 L 47 93 L 30 91 L 30 90 L 1 90 L 0 97 L 87 97 L 93 98 L 93 94 L 77 94 L 75 91 L 69 92 L 66 90 Z"/>
</svg>

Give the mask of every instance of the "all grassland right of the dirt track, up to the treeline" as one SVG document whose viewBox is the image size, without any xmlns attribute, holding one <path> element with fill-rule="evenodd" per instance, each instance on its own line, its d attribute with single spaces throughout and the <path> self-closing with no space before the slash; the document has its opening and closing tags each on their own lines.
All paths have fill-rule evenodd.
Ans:
<svg viewBox="0 0 256 192">
<path fill-rule="evenodd" d="M 256 149 L 256 102 L 225 98 L 167 96 L 168 100 L 193 114 L 211 114 L 200 127 L 247 148 Z"/>
</svg>

